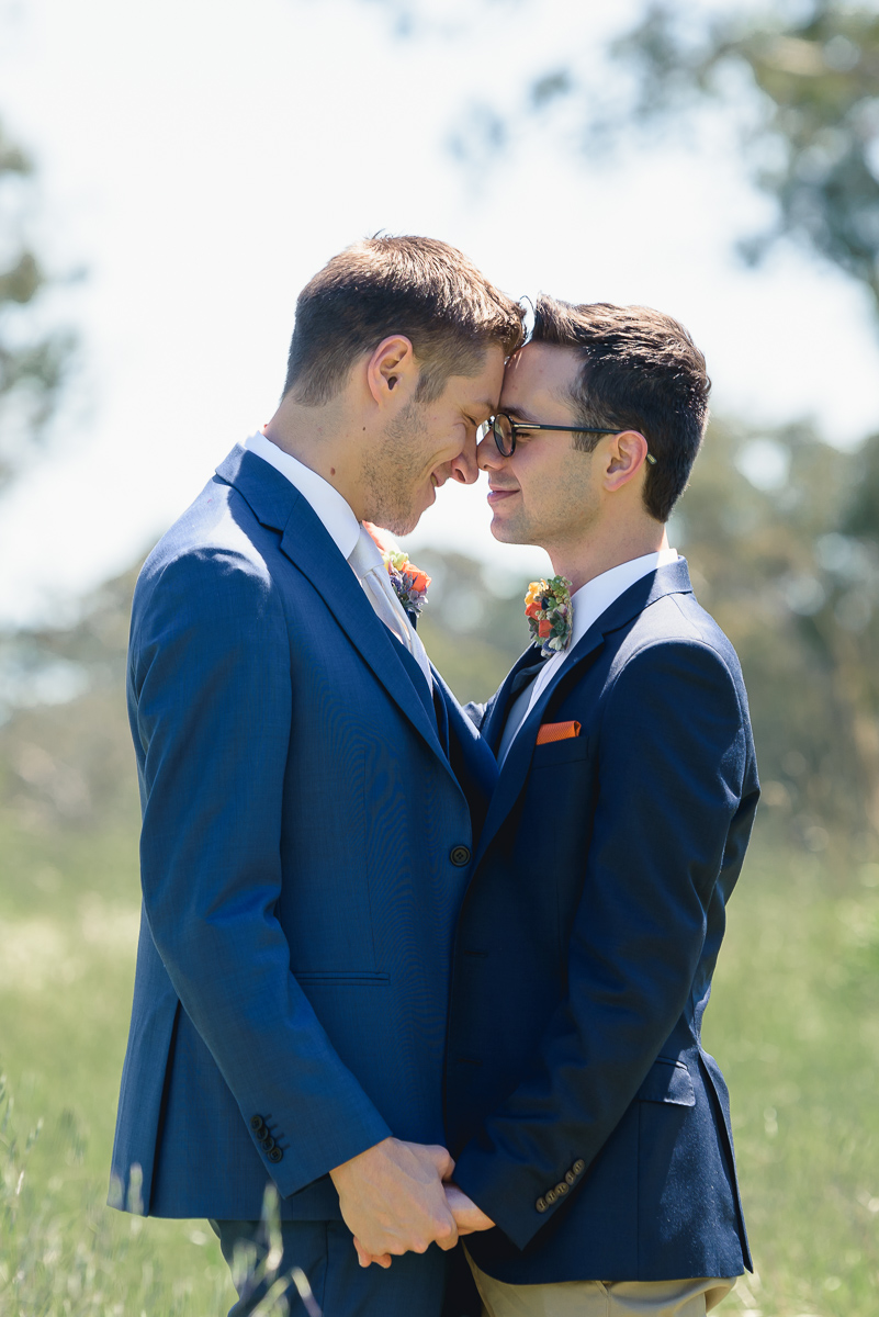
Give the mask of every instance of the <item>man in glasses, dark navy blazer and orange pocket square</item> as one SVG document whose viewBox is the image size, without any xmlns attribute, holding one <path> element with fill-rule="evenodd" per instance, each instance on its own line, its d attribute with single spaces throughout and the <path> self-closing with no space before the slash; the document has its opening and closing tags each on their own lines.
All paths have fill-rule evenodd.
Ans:
<svg viewBox="0 0 879 1317">
<path fill-rule="evenodd" d="M 759 788 L 736 653 L 666 537 L 708 390 L 671 317 L 541 298 L 479 448 L 495 536 L 572 594 L 529 591 L 541 649 L 482 720 L 500 777 L 454 946 L 484 1317 L 695 1317 L 750 1266 L 700 1025 Z"/>
</svg>

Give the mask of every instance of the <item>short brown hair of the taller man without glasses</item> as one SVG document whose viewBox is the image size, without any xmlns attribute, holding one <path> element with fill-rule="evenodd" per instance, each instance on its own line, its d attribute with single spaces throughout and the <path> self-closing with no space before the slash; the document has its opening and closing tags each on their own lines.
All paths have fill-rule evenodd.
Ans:
<svg viewBox="0 0 879 1317">
<path fill-rule="evenodd" d="M 318 407 L 343 386 L 354 361 L 389 335 L 412 341 L 416 398 L 433 402 L 450 375 L 476 375 L 486 348 L 522 341 L 520 307 L 463 253 L 436 238 L 372 237 L 334 255 L 296 303 L 284 395 Z"/>
</svg>

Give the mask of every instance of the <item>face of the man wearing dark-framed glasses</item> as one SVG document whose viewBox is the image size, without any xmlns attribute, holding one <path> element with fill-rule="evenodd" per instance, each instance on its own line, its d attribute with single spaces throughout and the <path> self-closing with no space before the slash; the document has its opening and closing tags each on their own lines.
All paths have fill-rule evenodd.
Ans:
<svg viewBox="0 0 879 1317">
<path fill-rule="evenodd" d="M 513 421 L 579 424 L 571 391 L 580 357 L 570 348 L 532 342 L 511 357 L 499 411 Z M 501 457 L 488 435 L 478 460 L 488 471 L 493 519 L 491 532 L 505 544 L 546 549 L 580 540 L 600 508 L 595 457 L 574 448 L 574 435 L 559 431 L 518 433 L 512 457 Z"/>
</svg>

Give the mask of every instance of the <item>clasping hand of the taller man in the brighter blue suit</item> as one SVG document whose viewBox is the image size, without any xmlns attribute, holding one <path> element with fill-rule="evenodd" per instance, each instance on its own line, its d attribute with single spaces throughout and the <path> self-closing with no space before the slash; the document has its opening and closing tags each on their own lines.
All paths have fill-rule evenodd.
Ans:
<svg viewBox="0 0 879 1317">
<path fill-rule="evenodd" d="M 454 1249 L 458 1229 L 442 1187 L 454 1162 L 443 1147 L 383 1139 L 330 1171 L 361 1266 L 389 1255 Z M 388 1259 L 387 1262 L 384 1259 Z"/>
</svg>

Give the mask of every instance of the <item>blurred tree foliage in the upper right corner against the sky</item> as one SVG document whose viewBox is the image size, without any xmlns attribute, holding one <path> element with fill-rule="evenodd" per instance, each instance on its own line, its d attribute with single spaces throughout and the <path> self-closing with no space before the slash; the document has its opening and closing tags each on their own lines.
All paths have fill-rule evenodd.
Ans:
<svg viewBox="0 0 879 1317">
<path fill-rule="evenodd" d="M 730 4 L 712 21 L 654 0 L 612 42 L 617 80 L 596 108 L 576 57 L 537 72 L 530 104 L 579 97 L 588 146 L 632 129 L 683 126 L 715 103 L 737 122 L 751 180 L 775 203 L 774 224 L 743 236 L 758 261 L 782 237 L 804 242 L 866 287 L 879 315 L 879 12 L 815 0 Z M 743 95 L 750 87 L 754 95 Z"/>
</svg>

